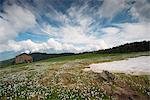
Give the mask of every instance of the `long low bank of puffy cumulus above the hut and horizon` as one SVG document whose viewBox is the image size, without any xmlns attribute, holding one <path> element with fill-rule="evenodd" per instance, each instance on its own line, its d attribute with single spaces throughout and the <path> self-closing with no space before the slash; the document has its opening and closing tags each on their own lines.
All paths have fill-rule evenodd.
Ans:
<svg viewBox="0 0 150 100">
<path fill-rule="evenodd" d="M 25 53 L 30 52 L 49 52 L 50 50 L 59 51 L 59 52 L 85 52 L 85 51 L 93 51 L 95 49 L 99 49 L 99 46 L 95 45 L 88 45 L 85 47 L 78 47 L 74 46 L 72 44 L 67 43 L 60 43 L 57 40 L 54 40 L 53 38 L 49 39 L 46 42 L 33 42 L 32 40 L 23 40 L 16 42 L 14 40 L 9 40 L 7 44 L 1 45 L 0 52 L 4 51 L 23 51 Z"/>
</svg>

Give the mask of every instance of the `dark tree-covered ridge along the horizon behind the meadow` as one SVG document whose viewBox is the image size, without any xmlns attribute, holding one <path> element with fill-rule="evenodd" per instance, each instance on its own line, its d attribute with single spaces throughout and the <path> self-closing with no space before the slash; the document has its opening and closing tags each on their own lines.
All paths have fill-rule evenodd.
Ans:
<svg viewBox="0 0 150 100">
<path fill-rule="evenodd" d="M 93 52 L 83 52 L 79 54 L 74 53 L 60 53 L 60 54 L 47 54 L 47 53 L 31 53 L 29 55 L 32 56 L 33 62 L 55 58 L 55 57 L 61 57 L 61 56 L 71 56 L 71 55 L 82 55 L 87 53 L 96 53 L 96 54 L 105 54 L 105 53 L 129 53 L 129 52 L 143 52 L 143 51 L 150 51 L 150 41 L 142 41 L 142 42 L 133 42 L 133 43 L 127 43 L 124 45 L 120 45 L 117 47 L 105 49 L 105 50 L 98 50 Z M 15 64 L 15 58 L 8 59 L 5 61 L 0 61 L 1 66 L 8 66 Z"/>
</svg>

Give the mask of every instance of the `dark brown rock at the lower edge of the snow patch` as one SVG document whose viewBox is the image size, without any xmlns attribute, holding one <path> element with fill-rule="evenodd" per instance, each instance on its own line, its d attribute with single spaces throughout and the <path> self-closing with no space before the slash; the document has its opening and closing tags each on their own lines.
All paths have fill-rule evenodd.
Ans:
<svg viewBox="0 0 150 100">
<path fill-rule="evenodd" d="M 108 71 L 103 71 L 102 73 L 100 73 L 100 77 L 105 81 L 112 81 L 115 79 L 115 76 Z"/>
</svg>

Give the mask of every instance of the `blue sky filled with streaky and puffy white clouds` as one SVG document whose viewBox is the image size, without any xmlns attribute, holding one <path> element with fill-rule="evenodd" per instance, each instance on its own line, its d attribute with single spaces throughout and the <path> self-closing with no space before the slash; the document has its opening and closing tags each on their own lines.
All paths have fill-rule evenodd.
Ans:
<svg viewBox="0 0 150 100">
<path fill-rule="evenodd" d="M 150 0 L 0 0 L 0 60 L 150 40 Z"/>
</svg>

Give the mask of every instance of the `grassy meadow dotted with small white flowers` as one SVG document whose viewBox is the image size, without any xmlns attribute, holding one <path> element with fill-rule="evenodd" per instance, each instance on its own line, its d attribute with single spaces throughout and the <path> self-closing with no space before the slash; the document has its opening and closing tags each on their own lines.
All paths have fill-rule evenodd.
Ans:
<svg viewBox="0 0 150 100">
<path fill-rule="evenodd" d="M 85 72 L 89 64 L 111 62 L 150 52 L 127 54 L 82 54 L 51 58 L 30 64 L 0 68 L 0 100 L 148 100 L 150 76 Z"/>
</svg>

